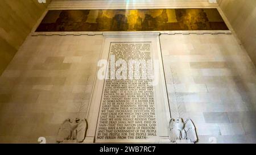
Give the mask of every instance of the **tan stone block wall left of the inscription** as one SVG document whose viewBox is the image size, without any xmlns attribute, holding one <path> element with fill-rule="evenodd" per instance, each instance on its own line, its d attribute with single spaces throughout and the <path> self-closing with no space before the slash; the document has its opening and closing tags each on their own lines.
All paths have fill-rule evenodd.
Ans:
<svg viewBox="0 0 256 155">
<path fill-rule="evenodd" d="M 103 36 L 28 36 L 0 77 L 0 143 L 56 143 L 85 118 Z"/>
</svg>

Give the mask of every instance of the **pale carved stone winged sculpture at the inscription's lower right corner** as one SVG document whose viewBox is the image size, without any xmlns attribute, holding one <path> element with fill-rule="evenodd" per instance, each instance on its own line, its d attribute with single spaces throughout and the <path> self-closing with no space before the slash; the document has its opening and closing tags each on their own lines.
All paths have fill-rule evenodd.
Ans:
<svg viewBox="0 0 256 155">
<path fill-rule="evenodd" d="M 168 128 L 171 142 L 191 140 L 192 143 L 195 143 L 197 141 L 195 125 L 191 119 L 187 119 L 185 122 L 181 118 L 171 119 Z"/>
</svg>

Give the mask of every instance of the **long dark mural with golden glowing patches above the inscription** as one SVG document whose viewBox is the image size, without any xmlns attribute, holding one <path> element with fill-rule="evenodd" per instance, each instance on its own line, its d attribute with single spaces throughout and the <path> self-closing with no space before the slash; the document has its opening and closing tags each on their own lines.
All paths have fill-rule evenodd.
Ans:
<svg viewBox="0 0 256 155">
<path fill-rule="evenodd" d="M 228 30 L 217 9 L 49 10 L 36 32 Z"/>
</svg>

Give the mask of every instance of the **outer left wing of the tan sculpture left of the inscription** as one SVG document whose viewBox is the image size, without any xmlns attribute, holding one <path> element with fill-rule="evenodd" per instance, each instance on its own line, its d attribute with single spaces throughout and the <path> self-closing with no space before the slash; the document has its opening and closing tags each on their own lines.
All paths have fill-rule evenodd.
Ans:
<svg viewBox="0 0 256 155">
<path fill-rule="evenodd" d="M 64 140 L 70 139 L 72 133 L 72 125 L 69 119 L 65 120 L 59 128 L 59 133 L 57 135 L 57 142 L 63 142 Z"/>
</svg>

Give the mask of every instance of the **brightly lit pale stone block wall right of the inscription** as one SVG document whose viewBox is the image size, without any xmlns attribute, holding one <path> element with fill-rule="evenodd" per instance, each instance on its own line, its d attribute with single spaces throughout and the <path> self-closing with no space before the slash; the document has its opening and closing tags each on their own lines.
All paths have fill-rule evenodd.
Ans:
<svg viewBox="0 0 256 155">
<path fill-rule="evenodd" d="M 256 143 L 256 69 L 233 35 L 161 35 L 172 117 L 199 143 Z"/>
</svg>

